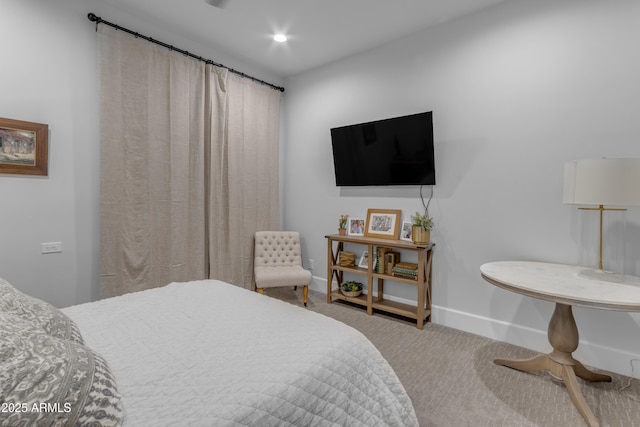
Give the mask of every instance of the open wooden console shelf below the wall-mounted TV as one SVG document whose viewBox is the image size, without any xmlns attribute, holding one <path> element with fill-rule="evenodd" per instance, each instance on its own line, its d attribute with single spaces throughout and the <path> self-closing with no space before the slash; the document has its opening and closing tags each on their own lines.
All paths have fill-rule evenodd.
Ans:
<svg viewBox="0 0 640 427">
<path fill-rule="evenodd" d="M 394 313 L 400 316 L 416 319 L 416 326 L 418 327 L 418 329 L 422 329 L 424 327 L 424 322 L 428 321 L 431 316 L 431 260 L 433 259 L 433 247 L 435 246 L 433 243 L 429 243 L 426 245 L 415 245 L 404 240 L 376 239 L 360 236 L 341 236 L 338 234 L 332 234 L 325 237 L 327 238 L 328 244 L 327 303 L 331 304 L 333 300 L 349 301 L 365 306 L 367 308 L 367 314 L 369 315 L 372 315 L 373 310 L 376 309 L 387 313 Z M 369 253 L 367 268 L 358 267 L 357 260 L 354 267 L 344 267 L 340 265 L 339 254 L 342 250 L 344 250 L 345 243 L 364 245 L 367 247 L 367 251 Z M 373 268 L 373 263 L 376 249 L 378 247 L 416 251 L 418 253 L 417 280 L 377 273 Z M 334 277 L 336 278 L 337 285 L 339 286 L 343 281 L 344 273 L 355 273 L 366 276 L 367 293 L 352 298 L 343 295 L 340 292 L 339 288 L 334 288 Z M 376 298 L 373 297 L 374 279 L 377 279 L 378 285 L 378 295 Z M 409 283 L 416 286 L 418 293 L 416 306 L 401 304 L 395 301 L 384 299 L 385 280 L 400 283 Z"/>
</svg>

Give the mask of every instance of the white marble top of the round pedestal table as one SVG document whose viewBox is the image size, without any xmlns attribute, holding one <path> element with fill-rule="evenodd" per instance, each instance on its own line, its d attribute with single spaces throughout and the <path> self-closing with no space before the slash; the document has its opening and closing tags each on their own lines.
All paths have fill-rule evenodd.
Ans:
<svg viewBox="0 0 640 427">
<path fill-rule="evenodd" d="M 488 282 L 523 295 L 568 305 L 640 311 L 640 277 L 576 265 L 498 261 L 480 266 Z"/>
</svg>

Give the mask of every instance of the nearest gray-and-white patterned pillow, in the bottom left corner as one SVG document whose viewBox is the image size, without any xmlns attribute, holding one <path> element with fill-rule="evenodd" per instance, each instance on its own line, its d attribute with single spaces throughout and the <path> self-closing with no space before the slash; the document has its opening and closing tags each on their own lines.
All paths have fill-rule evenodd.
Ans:
<svg viewBox="0 0 640 427">
<path fill-rule="evenodd" d="M 105 360 L 90 348 L 0 313 L 2 426 L 119 426 L 120 394 Z"/>
</svg>

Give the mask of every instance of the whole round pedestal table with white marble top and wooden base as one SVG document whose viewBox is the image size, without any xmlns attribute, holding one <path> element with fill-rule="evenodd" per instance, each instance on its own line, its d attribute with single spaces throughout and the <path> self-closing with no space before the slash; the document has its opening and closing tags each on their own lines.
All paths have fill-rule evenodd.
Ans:
<svg viewBox="0 0 640 427">
<path fill-rule="evenodd" d="M 483 264 L 482 277 L 500 288 L 555 303 L 549 321 L 548 338 L 553 347 L 549 354 L 528 360 L 495 359 L 494 363 L 526 372 L 549 371 L 564 381 L 569 396 L 589 426 L 598 419 L 587 405 L 576 377 L 586 381 L 611 381 L 609 375 L 590 371 L 573 358 L 578 348 L 578 327 L 572 306 L 620 311 L 640 311 L 640 278 L 610 276 L 586 267 L 542 262 L 502 261 Z"/>
</svg>

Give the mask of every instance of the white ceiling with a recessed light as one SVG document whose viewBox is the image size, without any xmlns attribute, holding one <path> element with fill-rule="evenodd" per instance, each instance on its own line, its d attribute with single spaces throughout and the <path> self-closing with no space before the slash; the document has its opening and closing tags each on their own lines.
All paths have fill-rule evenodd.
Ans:
<svg viewBox="0 0 640 427">
<path fill-rule="evenodd" d="M 103 1 L 287 77 L 505 0 Z M 279 32 L 289 41 L 273 41 Z"/>
</svg>

